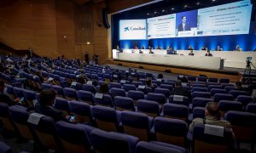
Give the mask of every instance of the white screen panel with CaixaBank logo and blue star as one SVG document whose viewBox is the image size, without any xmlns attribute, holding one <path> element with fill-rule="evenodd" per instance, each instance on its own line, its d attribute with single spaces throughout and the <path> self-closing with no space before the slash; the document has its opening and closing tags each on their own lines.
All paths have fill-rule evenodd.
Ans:
<svg viewBox="0 0 256 153">
<path fill-rule="evenodd" d="M 119 20 L 119 40 L 147 39 L 146 20 Z"/>
</svg>

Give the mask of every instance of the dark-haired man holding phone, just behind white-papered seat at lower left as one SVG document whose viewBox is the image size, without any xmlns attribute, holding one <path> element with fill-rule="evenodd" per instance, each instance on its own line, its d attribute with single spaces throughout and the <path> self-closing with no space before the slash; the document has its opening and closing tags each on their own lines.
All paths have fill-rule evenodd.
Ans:
<svg viewBox="0 0 256 153">
<path fill-rule="evenodd" d="M 35 111 L 40 114 L 44 114 L 45 116 L 52 117 L 55 122 L 57 121 L 66 121 L 68 122 L 68 119 L 62 111 L 59 111 L 53 106 L 55 105 L 55 90 L 53 89 L 44 89 L 40 95 L 39 99 L 40 101 L 35 106 Z"/>
</svg>

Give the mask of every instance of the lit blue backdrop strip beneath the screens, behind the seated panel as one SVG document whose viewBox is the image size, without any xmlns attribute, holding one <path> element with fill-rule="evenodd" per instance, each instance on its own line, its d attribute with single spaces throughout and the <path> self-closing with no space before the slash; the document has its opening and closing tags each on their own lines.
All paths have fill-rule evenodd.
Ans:
<svg viewBox="0 0 256 153">
<path fill-rule="evenodd" d="M 151 40 L 123 40 L 119 45 L 121 48 L 148 48 L 148 45 L 153 48 L 166 49 L 169 45 L 173 49 L 187 49 L 191 45 L 195 50 L 200 50 L 202 47 L 216 50 L 219 45 L 223 50 L 235 50 L 238 44 L 243 51 L 253 51 L 256 48 L 256 22 L 251 22 L 250 32 L 247 35 L 229 35 L 229 36 L 213 36 L 213 37 L 176 37 Z M 117 33 L 118 35 L 118 33 Z M 114 47 L 113 47 L 114 48 Z"/>
</svg>

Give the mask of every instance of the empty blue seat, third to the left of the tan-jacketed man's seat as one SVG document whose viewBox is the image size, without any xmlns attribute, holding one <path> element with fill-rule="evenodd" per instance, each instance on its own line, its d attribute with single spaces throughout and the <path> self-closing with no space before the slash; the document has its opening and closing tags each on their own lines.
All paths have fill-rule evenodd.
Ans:
<svg viewBox="0 0 256 153">
<path fill-rule="evenodd" d="M 117 131 L 118 122 L 116 111 L 113 108 L 96 105 L 92 108 L 96 119 L 96 126 L 105 131 Z"/>
</svg>

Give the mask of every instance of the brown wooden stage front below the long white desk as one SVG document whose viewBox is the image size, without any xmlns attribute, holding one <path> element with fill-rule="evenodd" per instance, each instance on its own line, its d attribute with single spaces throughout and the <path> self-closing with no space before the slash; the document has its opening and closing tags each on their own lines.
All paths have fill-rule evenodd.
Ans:
<svg viewBox="0 0 256 153">
<path fill-rule="evenodd" d="M 188 76 L 200 76 L 206 75 L 207 77 L 217 77 L 217 78 L 230 78 L 231 82 L 237 82 L 241 79 L 244 69 L 239 68 L 228 68 L 224 67 L 223 70 L 218 69 L 203 69 L 196 67 L 185 67 L 177 65 L 160 65 L 160 64 L 148 64 L 143 62 L 132 62 L 119 59 L 106 59 L 102 61 L 102 64 L 112 64 L 112 65 L 123 65 L 131 66 L 133 68 L 152 70 L 152 71 L 162 71 L 173 74 L 181 74 Z M 256 73 L 252 70 L 252 73 Z"/>
</svg>

